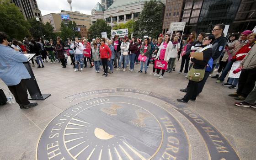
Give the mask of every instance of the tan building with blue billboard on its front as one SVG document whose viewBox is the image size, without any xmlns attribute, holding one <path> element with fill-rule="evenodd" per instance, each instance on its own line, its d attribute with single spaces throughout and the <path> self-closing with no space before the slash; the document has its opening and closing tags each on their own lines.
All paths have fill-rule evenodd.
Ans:
<svg viewBox="0 0 256 160">
<path fill-rule="evenodd" d="M 49 22 L 54 27 L 54 32 L 60 31 L 60 25 L 63 21 L 68 24 L 69 21 L 75 21 L 83 36 L 87 36 L 87 30 L 91 27 L 91 16 L 82 14 L 78 11 L 61 11 L 60 13 L 50 13 L 43 16 L 44 23 Z"/>
</svg>

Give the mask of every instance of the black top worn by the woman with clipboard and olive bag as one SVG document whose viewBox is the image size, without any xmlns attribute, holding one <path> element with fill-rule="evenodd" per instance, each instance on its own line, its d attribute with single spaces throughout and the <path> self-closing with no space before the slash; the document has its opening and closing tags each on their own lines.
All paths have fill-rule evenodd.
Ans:
<svg viewBox="0 0 256 160">
<path fill-rule="evenodd" d="M 213 49 L 208 48 L 203 51 L 203 60 L 191 59 L 191 62 L 194 63 L 194 69 L 204 69 L 208 64 L 209 59 L 212 57 Z"/>
</svg>

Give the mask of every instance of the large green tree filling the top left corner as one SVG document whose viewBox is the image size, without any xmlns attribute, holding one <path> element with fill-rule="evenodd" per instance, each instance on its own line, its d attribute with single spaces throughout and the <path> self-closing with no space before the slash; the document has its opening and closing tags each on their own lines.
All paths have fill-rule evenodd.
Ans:
<svg viewBox="0 0 256 160">
<path fill-rule="evenodd" d="M 0 17 L 0 31 L 8 34 L 11 39 L 23 40 L 24 37 L 30 36 L 29 23 L 10 0 L 0 0 Z"/>
</svg>

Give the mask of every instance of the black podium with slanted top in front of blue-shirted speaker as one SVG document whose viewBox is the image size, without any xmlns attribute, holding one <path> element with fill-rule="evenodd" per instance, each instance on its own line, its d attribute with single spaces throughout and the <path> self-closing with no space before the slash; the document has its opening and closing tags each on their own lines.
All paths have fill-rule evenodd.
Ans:
<svg viewBox="0 0 256 160">
<path fill-rule="evenodd" d="M 34 57 L 35 54 L 24 54 L 27 56 L 27 62 L 24 62 L 23 64 L 27 68 L 28 73 L 30 74 L 31 78 L 26 80 L 27 90 L 31 97 L 29 97 L 29 100 L 45 100 L 51 94 L 42 94 L 40 91 L 40 88 L 37 84 L 36 77 L 33 73 L 33 70 L 29 64 L 29 61 Z"/>
</svg>

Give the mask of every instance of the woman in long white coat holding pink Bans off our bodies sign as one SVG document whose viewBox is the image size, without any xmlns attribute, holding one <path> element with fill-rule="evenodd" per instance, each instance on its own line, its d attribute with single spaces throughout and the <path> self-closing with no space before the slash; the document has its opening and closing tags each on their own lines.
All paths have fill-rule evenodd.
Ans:
<svg viewBox="0 0 256 160">
<path fill-rule="evenodd" d="M 165 41 L 163 43 L 161 43 L 160 45 L 160 49 L 157 52 L 157 55 L 155 57 L 155 68 L 156 69 L 156 73 L 154 74 L 154 76 L 159 76 L 160 70 L 162 68 L 162 74 L 159 77 L 160 79 L 164 78 L 164 74 L 165 74 L 165 69 L 166 69 L 166 65 L 170 59 L 171 56 L 171 50 L 172 50 L 172 42 L 170 39 L 170 35 L 169 34 L 165 34 Z M 156 60 L 159 59 L 159 60 Z M 161 61 L 165 61 L 166 64 L 165 65 L 161 65 L 161 67 L 158 66 L 158 63 L 160 63 Z M 161 63 L 164 64 L 164 63 Z M 165 68 L 165 69 L 164 69 Z"/>
</svg>

